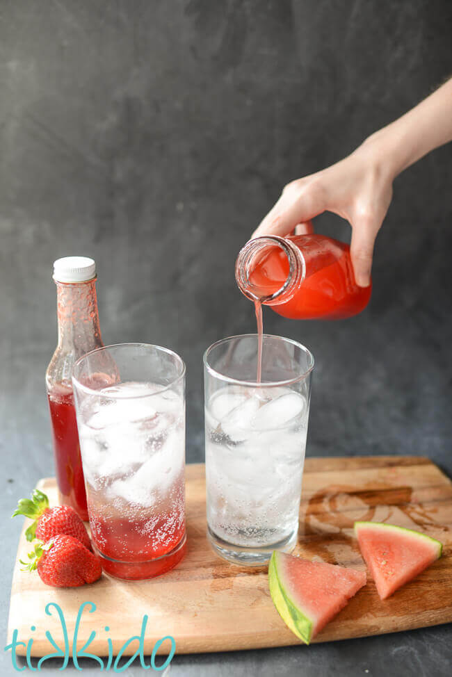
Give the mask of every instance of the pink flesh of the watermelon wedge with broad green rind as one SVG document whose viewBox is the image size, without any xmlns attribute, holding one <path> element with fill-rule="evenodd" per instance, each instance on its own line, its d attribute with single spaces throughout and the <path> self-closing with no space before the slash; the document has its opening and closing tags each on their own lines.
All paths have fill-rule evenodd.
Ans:
<svg viewBox="0 0 452 677">
<path fill-rule="evenodd" d="M 366 585 L 365 571 L 309 562 L 285 553 L 276 556 L 284 595 L 312 621 L 311 639 Z"/>
</svg>

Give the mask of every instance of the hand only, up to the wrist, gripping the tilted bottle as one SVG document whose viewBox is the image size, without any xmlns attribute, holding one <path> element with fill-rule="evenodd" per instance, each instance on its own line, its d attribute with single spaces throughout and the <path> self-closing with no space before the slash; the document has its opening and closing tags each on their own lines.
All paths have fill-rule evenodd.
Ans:
<svg viewBox="0 0 452 677">
<path fill-rule="evenodd" d="M 327 169 L 285 186 L 252 237 L 312 231 L 310 220 L 332 211 L 352 227 L 350 254 L 359 286 L 371 282 L 373 245 L 392 199 L 392 174 L 372 139 Z"/>
</svg>

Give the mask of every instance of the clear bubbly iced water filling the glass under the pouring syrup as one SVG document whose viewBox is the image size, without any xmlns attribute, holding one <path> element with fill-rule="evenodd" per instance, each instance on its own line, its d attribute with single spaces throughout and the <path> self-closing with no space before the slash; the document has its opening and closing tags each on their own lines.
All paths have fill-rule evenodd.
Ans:
<svg viewBox="0 0 452 677">
<path fill-rule="evenodd" d="M 283 386 L 224 386 L 206 405 L 208 523 L 248 547 L 298 525 L 308 403 Z"/>
</svg>

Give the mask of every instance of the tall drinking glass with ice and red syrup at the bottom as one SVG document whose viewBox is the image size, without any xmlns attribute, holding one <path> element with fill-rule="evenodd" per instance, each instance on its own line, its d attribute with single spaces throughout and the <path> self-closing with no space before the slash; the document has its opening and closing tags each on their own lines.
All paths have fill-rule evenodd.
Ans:
<svg viewBox="0 0 452 677">
<path fill-rule="evenodd" d="M 186 543 L 184 361 L 108 345 L 76 362 L 72 383 L 95 552 L 112 576 L 159 576 Z"/>
</svg>

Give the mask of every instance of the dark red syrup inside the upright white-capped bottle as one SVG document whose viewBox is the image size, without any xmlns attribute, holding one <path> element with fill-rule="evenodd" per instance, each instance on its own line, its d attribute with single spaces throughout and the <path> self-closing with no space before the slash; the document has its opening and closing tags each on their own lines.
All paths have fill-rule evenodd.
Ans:
<svg viewBox="0 0 452 677">
<path fill-rule="evenodd" d="M 60 503 L 71 505 L 86 521 L 88 507 L 72 390 L 63 384 L 56 386 L 49 393 L 49 407 Z"/>
</svg>

